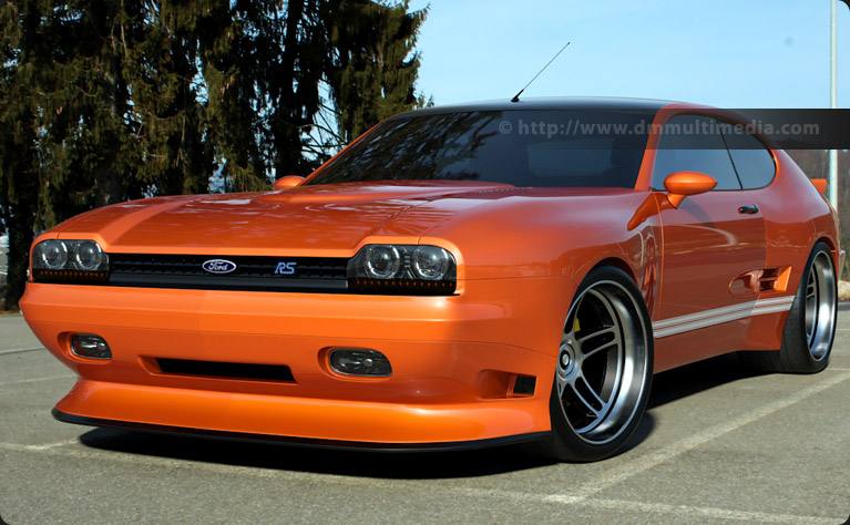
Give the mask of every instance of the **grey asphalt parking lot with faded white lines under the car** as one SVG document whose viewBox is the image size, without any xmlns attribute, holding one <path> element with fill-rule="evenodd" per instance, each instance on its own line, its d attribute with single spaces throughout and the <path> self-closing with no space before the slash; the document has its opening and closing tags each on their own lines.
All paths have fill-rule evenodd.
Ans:
<svg viewBox="0 0 850 525">
<path fill-rule="evenodd" d="M 0 516 L 49 523 L 787 523 L 850 515 L 850 306 L 830 367 L 735 354 L 655 378 L 627 450 L 556 464 L 522 447 L 296 449 L 60 423 L 74 375 L 0 317 Z"/>
</svg>

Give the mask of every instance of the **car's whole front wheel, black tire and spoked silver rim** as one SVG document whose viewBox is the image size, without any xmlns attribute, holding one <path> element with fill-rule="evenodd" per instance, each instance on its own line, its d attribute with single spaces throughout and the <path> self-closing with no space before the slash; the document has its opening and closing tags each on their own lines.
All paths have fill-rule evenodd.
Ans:
<svg viewBox="0 0 850 525">
<path fill-rule="evenodd" d="M 614 455 L 646 410 L 653 334 L 641 291 L 622 270 L 600 267 L 576 290 L 550 395 L 552 434 L 541 452 L 559 461 Z"/>
</svg>

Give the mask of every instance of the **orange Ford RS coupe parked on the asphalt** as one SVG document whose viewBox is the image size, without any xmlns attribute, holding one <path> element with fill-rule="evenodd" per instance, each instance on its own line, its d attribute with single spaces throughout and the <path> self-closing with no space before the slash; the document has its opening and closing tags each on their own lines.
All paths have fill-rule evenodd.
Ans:
<svg viewBox="0 0 850 525">
<path fill-rule="evenodd" d="M 741 124 L 635 100 L 429 109 L 272 192 L 74 217 L 33 243 L 21 301 L 79 375 L 53 414 L 593 461 L 655 372 L 733 351 L 818 372 L 836 213 Z"/>
</svg>

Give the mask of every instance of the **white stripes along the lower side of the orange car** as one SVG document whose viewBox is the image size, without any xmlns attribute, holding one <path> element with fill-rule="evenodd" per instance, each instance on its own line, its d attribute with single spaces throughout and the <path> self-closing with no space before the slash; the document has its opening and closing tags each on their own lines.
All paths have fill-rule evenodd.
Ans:
<svg viewBox="0 0 850 525">
<path fill-rule="evenodd" d="M 700 328 L 737 321 L 752 316 L 788 311 L 793 303 L 793 296 L 772 297 L 743 302 L 730 307 L 688 313 L 653 322 L 653 334 L 656 339 L 676 333 L 699 330 Z"/>
</svg>

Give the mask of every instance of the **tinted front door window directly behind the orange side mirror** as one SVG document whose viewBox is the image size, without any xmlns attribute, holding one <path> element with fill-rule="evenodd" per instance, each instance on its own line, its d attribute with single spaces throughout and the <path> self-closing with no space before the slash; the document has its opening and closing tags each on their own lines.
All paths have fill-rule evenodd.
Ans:
<svg viewBox="0 0 850 525">
<path fill-rule="evenodd" d="M 655 156 L 653 188 L 675 172 L 699 172 L 717 181 L 717 189 L 740 189 L 717 121 L 700 115 L 674 116 L 664 126 Z"/>
</svg>

